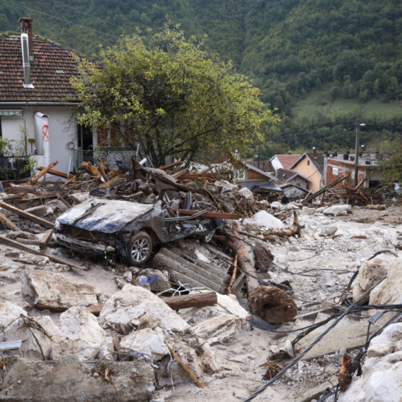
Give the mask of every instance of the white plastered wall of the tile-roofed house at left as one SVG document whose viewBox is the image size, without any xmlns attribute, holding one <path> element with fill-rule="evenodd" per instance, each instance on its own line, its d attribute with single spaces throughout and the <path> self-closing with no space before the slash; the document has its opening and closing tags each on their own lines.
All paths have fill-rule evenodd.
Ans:
<svg viewBox="0 0 402 402">
<path fill-rule="evenodd" d="M 2 109 L 8 109 L 3 107 Z M 11 107 L 10 107 L 11 109 Z M 10 118 L 1 118 L 1 130 L 3 138 L 20 140 L 19 124 L 24 125 L 28 130 L 28 138 L 35 138 L 34 115 L 37 111 L 49 116 L 49 136 L 50 159 L 51 162 L 59 161 L 56 170 L 64 173 L 68 172 L 68 164 L 71 158 L 71 167 L 73 166 L 73 150 L 69 150 L 68 142 L 73 142 L 77 149 L 77 138 L 75 135 L 75 121 L 69 121 L 71 118 L 71 108 L 69 106 L 22 106 L 13 109 L 23 109 L 23 116 L 10 116 Z M 35 147 L 35 144 L 34 144 Z M 28 153 L 31 153 L 31 146 L 28 142 Z M 43 164 L 43 156 L 37 156 L 38 166 Z"/>
</svg>

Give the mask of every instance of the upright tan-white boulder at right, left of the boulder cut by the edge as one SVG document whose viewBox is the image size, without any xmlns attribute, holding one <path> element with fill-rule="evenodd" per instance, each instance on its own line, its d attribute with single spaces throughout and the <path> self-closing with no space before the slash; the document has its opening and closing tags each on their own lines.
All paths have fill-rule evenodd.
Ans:
<svg viewBox="0 0 402 402">
<path fill-rule="evenodd" d="M 389 267 L 395 260 L 394 255 L 383 253 L 372 258 L 372 260 L 363 262 L 353 286 L 353 300 L 358 300 L 365 291 L 370 289 L 379 279 L 386 276 Z"/>
</svg>

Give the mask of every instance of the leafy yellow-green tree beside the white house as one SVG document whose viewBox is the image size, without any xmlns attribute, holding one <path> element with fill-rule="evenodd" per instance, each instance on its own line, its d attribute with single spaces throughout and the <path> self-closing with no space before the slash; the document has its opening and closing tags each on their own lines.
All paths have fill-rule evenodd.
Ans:
<svg viewBox="0 0 402 402">
<path fill-rule="evenodd" d="M 71 81 L 80 98 L 78 121 L 118 127 L 120 145 L 139 143 L 155 166 L 169 155 L 189 164 L 195 156 L 245 154 L 276 126 L 260 90 L 202 43 L 186 40 L 178 26 L 122 37 L 101 49 L 100 59 L 80 60 L 80 75 Z M 108 145 L 118 145 L 113 141 Z"/>
</svg>

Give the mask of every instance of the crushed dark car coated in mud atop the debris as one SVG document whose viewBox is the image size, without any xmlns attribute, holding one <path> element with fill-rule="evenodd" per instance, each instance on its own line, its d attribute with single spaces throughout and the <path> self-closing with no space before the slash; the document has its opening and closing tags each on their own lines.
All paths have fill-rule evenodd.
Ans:
<svg viewBox="0 0 402 402">
<path fill-rule="evenodd" d="M 87 255 L 118 255 L 128 265 L 140 266 L 158 243 L 197 236 L 209 243 L 222 219 L 202 217 L 205 211 L 179 217 L 171 209 L 122 200 L 94 198 L 75 205 L 54 224 L 59 244 Z"/>
</svg>

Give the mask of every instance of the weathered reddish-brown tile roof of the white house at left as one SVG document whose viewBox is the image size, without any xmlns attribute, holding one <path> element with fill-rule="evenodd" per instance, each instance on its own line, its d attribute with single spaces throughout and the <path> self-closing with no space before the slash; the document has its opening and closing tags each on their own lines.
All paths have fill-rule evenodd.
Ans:
<svg viewBox="0 0 402 402">
<path fill-rule="evenodd" d="M 20 35 L 0 37 L 0 102 L 77 102 L 70 78 L 78 75 L 72 56 L 78 52 L 35 35 L 32 39 L 30 54 L 35 61 L 30 66 L 35 88 L 24 88 Z"/>
</svg>

